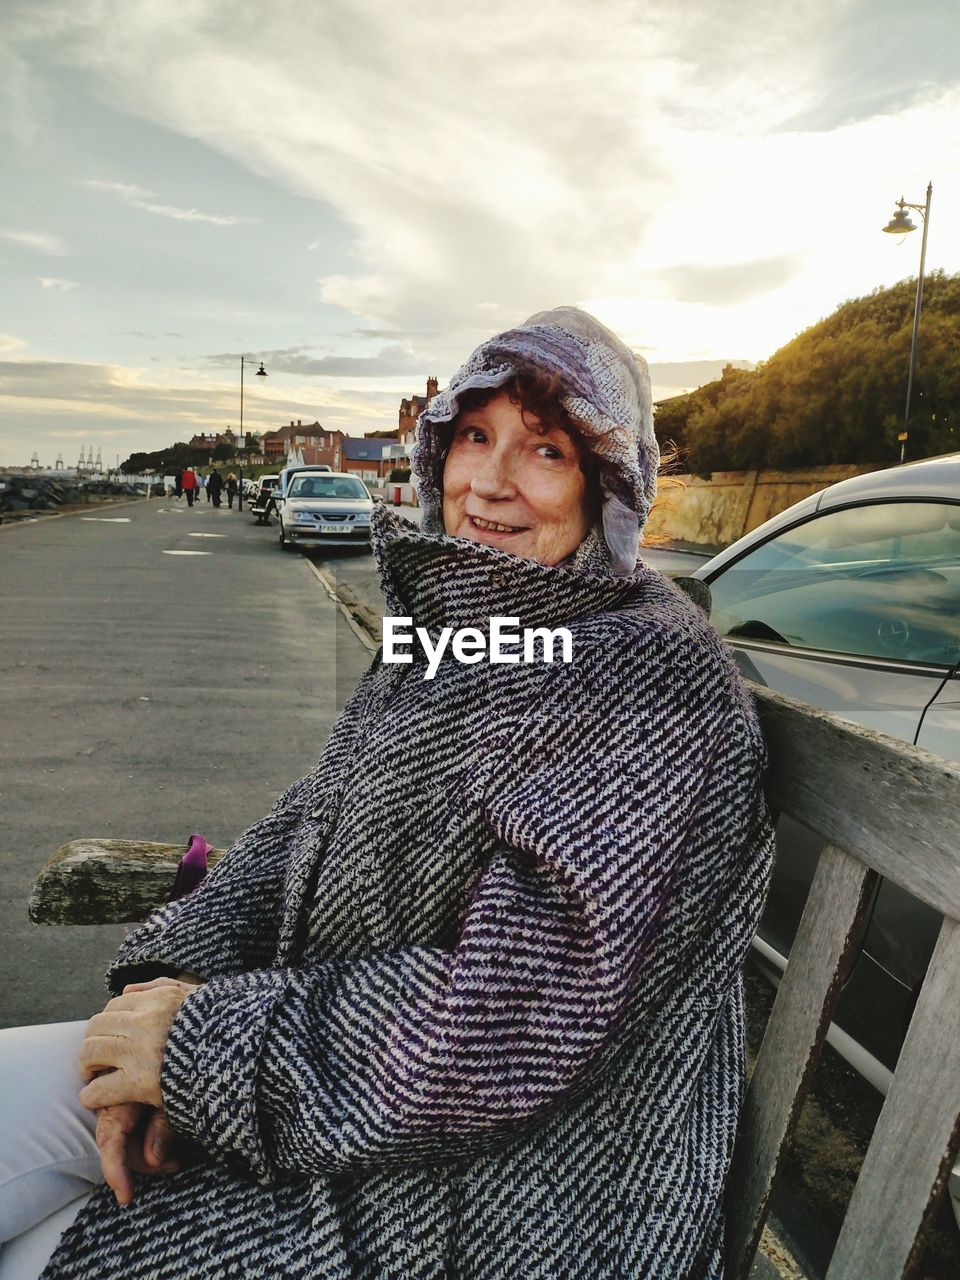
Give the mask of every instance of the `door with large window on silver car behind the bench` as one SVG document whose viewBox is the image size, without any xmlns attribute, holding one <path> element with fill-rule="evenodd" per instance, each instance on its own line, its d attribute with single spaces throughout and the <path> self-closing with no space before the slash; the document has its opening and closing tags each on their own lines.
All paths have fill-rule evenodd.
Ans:
<svg viewBox="0 0 960 1280">
<path fill-rule="evenodd" d="M 946 735 L 950 704 L 940 696 L 960 658 L 959 516 L 955 503 L 920 500 L 817 512 L 705 573 L 710 618 L 751 680 L 910 742 L 922 721 L 928 740 Z M 758 943 L 771 961 L 790 950 L 820 847 L 781 817 Z M 929 957 L 931 916 L 896 886 L 881 887 L 837 1011 L 886 1066 Z"/>
</svg>

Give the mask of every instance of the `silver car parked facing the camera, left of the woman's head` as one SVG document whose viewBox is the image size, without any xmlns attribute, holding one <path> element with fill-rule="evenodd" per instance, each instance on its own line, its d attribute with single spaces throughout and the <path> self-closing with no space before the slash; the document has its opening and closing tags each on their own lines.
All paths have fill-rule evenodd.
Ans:
<svg viewBox="0 0 960 1280">
<path fill-rule="evenodd" d="M 370 547 L 374 499 L 366 485 L 346 471 L 294 475 L 284 497 L 280 547 Z"/>
</svg>

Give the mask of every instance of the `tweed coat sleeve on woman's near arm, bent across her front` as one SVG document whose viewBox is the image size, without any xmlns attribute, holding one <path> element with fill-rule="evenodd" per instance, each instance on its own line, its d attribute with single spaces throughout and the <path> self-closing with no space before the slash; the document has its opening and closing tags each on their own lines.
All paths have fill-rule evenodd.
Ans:
<svg viewBox="0 0 960 1280">
<path fill-rule="evenodd" d="M 622 1024 L 744 716 L 703 636 L 639 648 L 595 655 L 589 678 L 553 668 L 541 732 L 511 726 L 484 805 L 497 851 L 452 950 L 265 969 L 187 997 L 161 1071 L 179 1132 L 270 1183 L 474 1155 L 576 1093 Z"/>
</svg>

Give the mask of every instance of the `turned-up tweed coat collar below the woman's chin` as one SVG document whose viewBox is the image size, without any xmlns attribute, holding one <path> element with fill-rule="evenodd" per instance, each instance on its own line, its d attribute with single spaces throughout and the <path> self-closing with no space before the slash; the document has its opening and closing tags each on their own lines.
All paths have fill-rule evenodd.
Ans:
<svg viewBox="0 0 960 1280">
<path fill-rule="evenodd" d="M 492 616 L 517 617 L 521 626 L 559 626 L 635 599 L 653 570 L 627 577 L 609 570 L 602 535 L 593 531 L 568 564 L 539 564 L 466 538 L 428 534 L 379 506 L 372 543 L 388 612 L 415 626 L 480 627 Z"/>
</svg>

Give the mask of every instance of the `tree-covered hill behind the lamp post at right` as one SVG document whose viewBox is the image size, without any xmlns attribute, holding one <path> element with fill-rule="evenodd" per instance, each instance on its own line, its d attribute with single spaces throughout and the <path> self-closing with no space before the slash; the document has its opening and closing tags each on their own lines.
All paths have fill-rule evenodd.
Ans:
<svg viewBox="0 0 960 1280">
<path fill-rule="evenodd" d="M 915 280 L 844 302 L 755 370 L 664 401 L 655 429 L 695 475 L 900 458 Z M 924 278 L 906 458 L 960 451 L 960 275 Z M 681 453 L 682 457 L 682 453 Z"/>
</svg>

